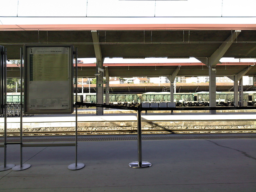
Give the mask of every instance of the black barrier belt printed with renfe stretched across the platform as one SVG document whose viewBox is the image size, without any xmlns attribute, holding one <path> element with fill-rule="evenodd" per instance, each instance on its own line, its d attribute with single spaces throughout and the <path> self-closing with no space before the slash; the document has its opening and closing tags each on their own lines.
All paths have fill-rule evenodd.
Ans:
<svg viewBox="0 0 256 192">
<path fill-rule="evenodd" d="M 111 109 L 127 109 L 138 111 L 138 107 L 122 107 L 117 105 L 106 105 L 106 104 L 96 104 L 96 103 L 84 103 L 76 102 L 75 104 L 80 106 L 88 107 L 103 107 Z M 244 110 L 244 109 L 256 109 L 256 106 L 253 107 L 140 107 L 141 111 L 192 111 L 192 110 Z"/>
</svg>

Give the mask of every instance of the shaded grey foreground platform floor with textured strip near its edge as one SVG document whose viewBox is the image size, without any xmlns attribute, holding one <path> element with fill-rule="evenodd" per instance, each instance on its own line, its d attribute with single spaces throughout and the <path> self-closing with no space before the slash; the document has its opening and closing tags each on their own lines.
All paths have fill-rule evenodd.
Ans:
<svg viewBox="0 0 256 192">
<path fill-rule="evenodd" d="M 51 191 L 256 191 L 256 134 L 168 134 L 142 136 L 148 168 L 137 161 L 136 135 L 78 136 L 75 147 L 24 147 L 23 171 L 0 172 L 0 192 Z M 3 138 L 0 138 L 2 143 Z M 19 138 L 8 137 L 8 142 Z M 74 136 L 24 137 L 24 143 L 72 143 Z M 7 146 L 7 163 L 20 164 L 19 145 Z M 3 148 L 0 148 L 3 165 Z"/>
</svg>

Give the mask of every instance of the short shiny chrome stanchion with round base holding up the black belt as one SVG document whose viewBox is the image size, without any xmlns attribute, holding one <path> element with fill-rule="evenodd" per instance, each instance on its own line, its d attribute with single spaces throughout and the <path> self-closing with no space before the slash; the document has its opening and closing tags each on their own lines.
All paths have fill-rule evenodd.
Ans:
<svg viewBox="0 0 256 192">
<path fill-rule="evenodd" d="M 129 163 L 132 168 L 146 168 L 152 166 L 151 163 L 142 161 L 142 147 L 141 147 L 141 109 L 138 107 L 137 111 L 137 132 L 138 132 L 138 161 Z"/>
</svg>

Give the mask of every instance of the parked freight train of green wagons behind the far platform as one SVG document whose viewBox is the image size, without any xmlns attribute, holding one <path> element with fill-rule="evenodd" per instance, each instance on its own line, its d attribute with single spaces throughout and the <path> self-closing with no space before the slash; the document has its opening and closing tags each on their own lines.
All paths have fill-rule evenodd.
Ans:
<svg viewBox="0 0 256 192">
<path fill-rule="evenodd" d="M 245 106 L 256 106 L 256 91 L 247 91 L 243 94 Z M 103 99 L 105 103 L 105 95 Z M 96 103 L 96 93 L 79 93 L 77 101 Z M 8 93 L 7 103 L 18 102 L 20 102 L 19 94 Z M 170 92 L 109 95 L 110 104 L 136 106 L 141 102 L 170 102 Z M 174 93 L 174 102 L 177 107 L 209 106 L 209 92 Z M 216 104 L 217 106 L 234 106 L 234 92 L 216 92 Z"/>
</svg>

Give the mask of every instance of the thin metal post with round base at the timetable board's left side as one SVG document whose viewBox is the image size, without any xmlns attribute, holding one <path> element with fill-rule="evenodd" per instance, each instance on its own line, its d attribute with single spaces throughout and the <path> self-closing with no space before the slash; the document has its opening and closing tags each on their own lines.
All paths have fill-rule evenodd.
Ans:
<svg viewBox="0 0 256 192">
<path fill-rule="evenodd" d="M 28 169 L 31 165 L 30 164 L 23 164 L 22 159 L 22 134 L 23 134 L 23 126 L 22 126 L 22 116 L 23 116 L 23 54 L 22 54 L 22 48 L 20 48 L 20 165 L 17 165 L 12 168 L 13 171 L 22 171 Z"/>
</svg>

